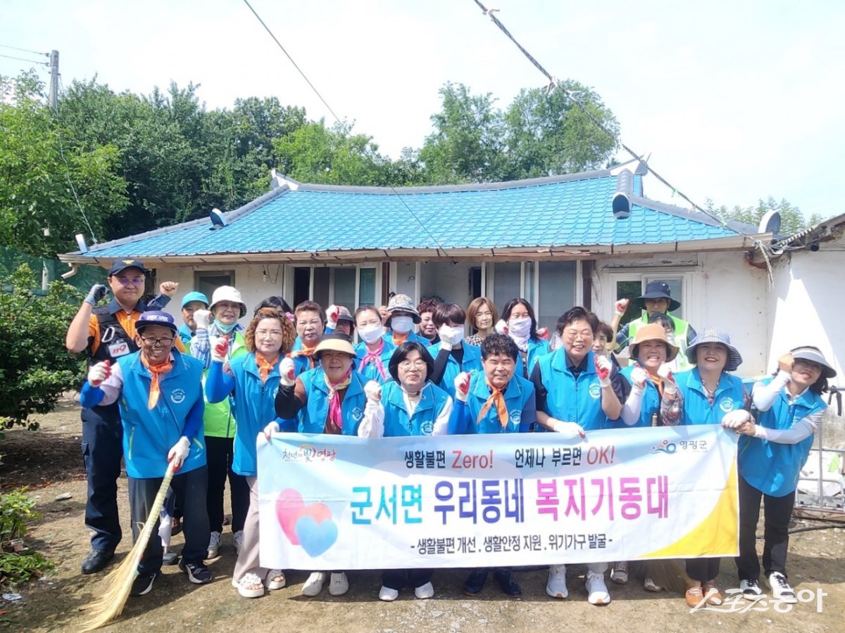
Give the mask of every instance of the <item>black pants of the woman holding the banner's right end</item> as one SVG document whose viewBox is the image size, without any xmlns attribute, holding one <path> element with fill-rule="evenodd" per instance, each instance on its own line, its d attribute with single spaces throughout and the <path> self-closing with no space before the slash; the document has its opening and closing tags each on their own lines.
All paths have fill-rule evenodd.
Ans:
<svg viewBox="0 0 845 633">
<path fill-rule="evenodd" d="M 760 519 L 760 497 L 766 515 L 763 541 L 763 571 L 787 575 L 787 549 L 789 549 L 789 519 L 795 505 L 795 491 L 782 497 L 764 495 L 760 490 L 739 477 L 739 556 L 736 558 L 739 580 L 760 578 L 760 560 L 757 558 L 756 532 Z"/>
</svg>

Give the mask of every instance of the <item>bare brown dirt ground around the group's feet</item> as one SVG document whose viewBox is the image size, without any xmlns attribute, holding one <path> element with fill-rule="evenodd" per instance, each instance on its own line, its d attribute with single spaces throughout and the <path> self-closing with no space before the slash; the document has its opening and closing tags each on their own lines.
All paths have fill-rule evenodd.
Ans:
<svg viewBox="0 0 845 633">
<path fill-rule="evenodd" d="M 10 630 L 78 630 L 82 609 L 103 589 L 101 575 L 82 576 L 79 565 L 89 551 L 88 531 L 83 523 L 85 471 L 79 449 L 79 408 L 63 403 L 56 412 L 39 416 L 41 430 L 7 431 L 0 442 L 4 466 L 0 468 L 0 490 L 29 485 L 44 517 L 30 527 L 28 542 L 56 562 L 56 570 L 40 581 L 2 592 L 19 592 L 22 598 L 8 602 L 0 598 L 0 627 Z M 55 500 L 70 493 L 69 500 Z M 126 479 L 121 479 L 119 500 L 128 530 Z M 818 525 L 796 522 L 795 527 Z M 174 537 L 175 549 L 181 534 Z M 492 578 L 479 598 L 465 598 L 461 582 L 466 571 L 435 571 L 434 598 L 417 600 L 413 592 L 401 592 L 395 603 L 378 599 L 381 585 L 377 571 L 353 571 L 350 591 L 331 598 L 326 591 L 318 598 L 303 598 L 304 571 L 290 571 L 288 586 L 264 598 L 248 600 L 237 596 L 231 585 L 235 551 L 231 533 L 224 533 L 221 556 L 210 563 L 215 579 L 197 587 L 178 571 L 166 566 L 152 592 L 129 598 L 123 614 L 104 630 L 348 630 L 348 631 L 476 631 L 476 630 L 801 630 L 842 631 L 845 629 L 845 529 L 815 530 L 793 535 L 789 548 L 789 571 L 799 595 L 812 602 L 799 603 L 779 613 L 771 603 L 737 600 L 737 606 L 720 611 L 690 613 L 679 594 L 647 593 L 632 580 L 619 586 L 608 582 L 613 603 L 594 607 L 586 602 L 583 585 L 585 568 L 569 570 L 570 598 L 554 600 L 544 592 L 546 571 L 519 571 L 523 598 L 504 598 Z M 760 548 L 762 542 L 759 541 Z M 124 536 L 118 559 L 130 548 Z M 377 565 L 373 565 L 377 566 Z M 736 587 L 732 560 L 722 560 L 718 578 L 723 589 Z M 818 602 L 819 592 L 824 592 Z M 740 612 L 744 609 L 744 612 Z M 746 610 L 747 609 L 747 610 Z M 756 609 L 756 610 L 754 610 Z M 779 607 L 783 610 L 783 607 Z M 4 612 L 4 613 L 3 613 Z"/>
</svg>

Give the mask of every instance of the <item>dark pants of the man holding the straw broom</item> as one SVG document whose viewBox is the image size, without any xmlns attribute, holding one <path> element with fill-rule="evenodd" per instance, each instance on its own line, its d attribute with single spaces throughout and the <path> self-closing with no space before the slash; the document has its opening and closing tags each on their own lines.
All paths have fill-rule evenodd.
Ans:
<svg viewBox="0 0 845 633">
<path fill-rule="evenodd" d="M 209 546 L 209 516 L 205 511 L 205 490 L 208 471 L 205 466 L 178 473 L 170 487 L 180 501 L 183 512 L 185 545 L 182 557 L 188 563 L 202 563 Z M 148 519 L 155 520 L 150 541 L 138 565 L 139 574 L 161 570 L 161 538 L 158 538 L 159 516 L 150 517 L 155 495 L 161 486 L 161 477 L 134 479 L 129 477 L 129 511 L 132 514 L 132 542 L 144 529 Z"/>
</svg>

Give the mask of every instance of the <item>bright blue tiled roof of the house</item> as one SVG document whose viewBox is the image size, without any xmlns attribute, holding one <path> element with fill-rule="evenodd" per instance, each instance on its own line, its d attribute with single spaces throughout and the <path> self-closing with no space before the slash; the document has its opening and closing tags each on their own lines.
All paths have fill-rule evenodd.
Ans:
<svg viewBox="0 0 845 633">
<path fill-rule="evenodd" d="M 703 214 L 642 198 L 638 175 L 630 217 L 615 219 L 610 202 L 617 187 L 608 171 L 395 192 L 300 185 L 233 212 L 222 229 L 194 221 L 104 244 L 89 256 L 660 245 L 737 236 Z"/>
</svg>

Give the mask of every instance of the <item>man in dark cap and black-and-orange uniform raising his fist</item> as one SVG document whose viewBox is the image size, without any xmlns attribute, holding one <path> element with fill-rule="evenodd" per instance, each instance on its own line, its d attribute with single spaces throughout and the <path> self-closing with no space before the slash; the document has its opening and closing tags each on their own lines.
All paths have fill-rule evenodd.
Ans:
<svg viewBox="0 0 845 633">
<path fill-rule="evenodd" d="M 106 283 L 94 284 L 68 327 L 65 345 L 72 352 L 88 356 L 88 364 L 114 361 L 138 351 L 135 322 L 144 311 L 160 310 L 179 284 L 163 282 L 161 294 L 144 304 L 147 269 L 137 259 L 117 259 L 109 268 Z M 114 299 L 95 307 L 112 290 Z M 177 338 L 177 349 L 184 351 Z M 82 455 L 88 473 L 88 502 L 85 525 L 93 530 L 91 552 L 82 562 L 82 573 L 101 571 L 114 556 L 122 536 L 117 516 L 117 478 L 123 457 L 123 427 L 117 403 L 82 409 Z"/>
</svg>

